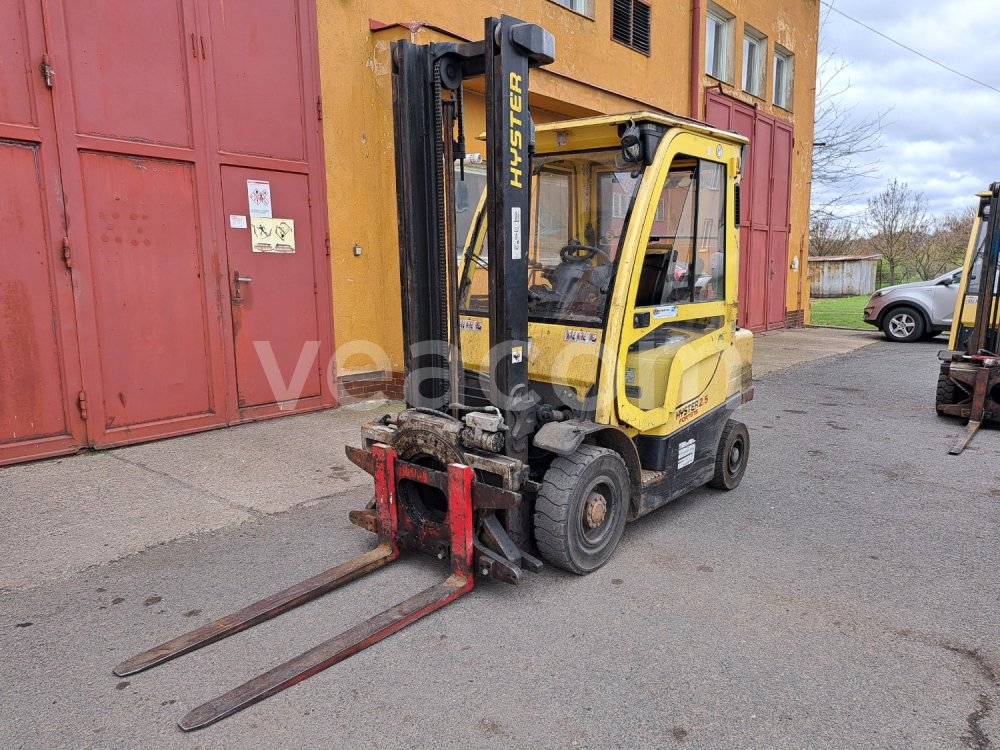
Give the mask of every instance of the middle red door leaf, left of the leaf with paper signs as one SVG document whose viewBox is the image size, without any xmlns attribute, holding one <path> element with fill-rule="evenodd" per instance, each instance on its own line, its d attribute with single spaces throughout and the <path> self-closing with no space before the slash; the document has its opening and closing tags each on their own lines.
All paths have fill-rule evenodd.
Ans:
<svg viewBox="0 0 1000 750">
<path fill-rule="evenodd" d="M 195 6 L 50 12 L 90 442 L 224 424 Z"/>
</svg>

